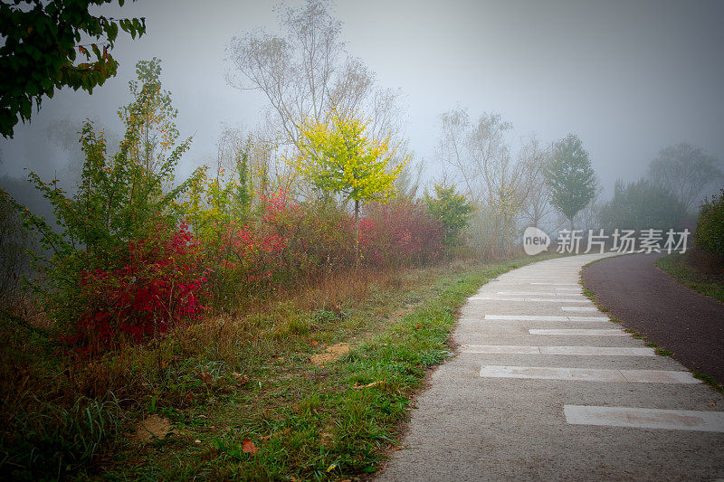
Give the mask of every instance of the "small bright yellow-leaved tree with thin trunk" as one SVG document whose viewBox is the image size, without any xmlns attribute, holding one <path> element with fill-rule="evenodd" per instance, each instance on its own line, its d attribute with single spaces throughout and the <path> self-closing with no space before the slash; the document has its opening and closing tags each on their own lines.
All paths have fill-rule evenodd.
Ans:
<svg viewBox="0 0 724 482">
<path fill-rule="evenodd" d="M 297 168 L 318 189 L 341 194 L 355 203 L 357 263 L 359 262 L 359 203 L 386 201 L 395 194 L 395 179 L 407 159 L 391 165 L 395 149 L 389 137 L 377 140 L 367 136 L 367 126 L 359 118 L 330 116 L 329 122 L 308 121 L 301 129 Z"/>
</svg>

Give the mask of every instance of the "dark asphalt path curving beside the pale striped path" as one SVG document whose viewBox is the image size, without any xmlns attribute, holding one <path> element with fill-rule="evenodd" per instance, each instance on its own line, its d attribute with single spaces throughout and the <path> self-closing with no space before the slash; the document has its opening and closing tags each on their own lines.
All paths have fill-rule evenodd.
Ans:
<svg viewBox="0 0 724 482">
<path fill-rule="evenodd" d="M 660 257 L 633 254 L 596 262 L 583 272 L 586 288 L 624 326 L 724 384 L 724 303 L 681 286 L 656 268 Z"/>
</svg>

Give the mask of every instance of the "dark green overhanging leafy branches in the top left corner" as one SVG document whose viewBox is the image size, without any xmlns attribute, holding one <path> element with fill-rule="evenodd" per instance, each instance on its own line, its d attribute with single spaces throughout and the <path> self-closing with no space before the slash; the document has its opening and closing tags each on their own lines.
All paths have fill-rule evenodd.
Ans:
<svg viewBox="0 0 724 482">
<path fill-rule="evenodd" d="M 0 34 L 5 40 L 0 47 L 0 134 L 13 137 L 18 121 L 30 120 L 33 101 L 40 109 L 43 96 L 52 98 L 56 89 L 67 86 L 92 93 L 116 75 L 118 61 L 110 50 L 119 28 L 136 38 L 146 33 L 146 20 L 113 19 L 89 12 L 92 5 L 112 3 L 114 0 L 0 2 Z M 118 3 L 123 6 L 125 0 Z M 81 44 L 88 37 L 95 42 Z M 85 61 L 75 63 L 78 54 Z"/>
</svg>

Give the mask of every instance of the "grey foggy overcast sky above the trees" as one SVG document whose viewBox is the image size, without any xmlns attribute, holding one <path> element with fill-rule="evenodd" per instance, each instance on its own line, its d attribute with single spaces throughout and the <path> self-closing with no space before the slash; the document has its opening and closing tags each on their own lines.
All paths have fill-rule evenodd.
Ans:
<svg viewBox="0 0 724 482">
<path fill-rule="evenodd" d="M 97 118 L 120 132 L 116 111 L 129 102 L 135 62 L 154 56 L 181 136 L 194 136 L 183 171 L 210 163 L 224 124 L 253 128 L 261 118 L 261 96 L 224 81 L 224 46 L 257 27 L 276 29 L 273 5 L 138 0 L 103 10 L 145 16 L 148 33 L 120 38 L 119 75 L 92 96 L 59 92 L 13 140 L 0 140 L 0 173 L 62 173 L 67 161 L 48 135 L 60 121 Z M 519 137 L 576 133 L 608 193 L 617 177 L 638 179 L 662 147 L 681 141 L 724 159 L 724 2 L 341 0 L 335 12 L 348 53 L 376 71 L 378 85 L 404 94 L 405 137 L 430 176 L 439 115 L 456 106 L 472 118 L 498 112 Z"/>
</svg>

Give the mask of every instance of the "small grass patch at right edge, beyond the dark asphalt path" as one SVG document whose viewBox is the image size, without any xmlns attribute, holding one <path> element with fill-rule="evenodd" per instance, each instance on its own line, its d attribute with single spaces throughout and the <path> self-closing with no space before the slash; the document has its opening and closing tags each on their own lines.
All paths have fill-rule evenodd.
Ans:
<svg viewBox="0 0 724 482">
<path fill-rule="evenodd" d="M 700 252 L 674 253 L 656 260 L 656 266 L 685 287 L 724 303 L 724 269 L 719 260 L 702 260 L 702 256 Z"/>
</svg>

